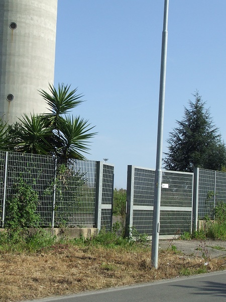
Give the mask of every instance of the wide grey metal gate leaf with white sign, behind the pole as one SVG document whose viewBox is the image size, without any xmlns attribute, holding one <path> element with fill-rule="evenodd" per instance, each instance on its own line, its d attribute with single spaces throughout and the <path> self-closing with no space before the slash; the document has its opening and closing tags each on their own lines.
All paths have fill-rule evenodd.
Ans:
<svg viewBox="0 0 226 302">
<path fill-rule="evenodd" d="M 128 166 L 126 229 L 152 236 L 155 171 Z M 191 231 L 193 173 L 164 171 L 160 238 Z"/>
</svg>

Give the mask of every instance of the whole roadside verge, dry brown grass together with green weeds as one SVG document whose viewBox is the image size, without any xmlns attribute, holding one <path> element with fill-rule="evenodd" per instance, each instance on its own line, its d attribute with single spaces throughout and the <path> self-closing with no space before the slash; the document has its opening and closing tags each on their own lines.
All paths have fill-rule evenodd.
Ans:
<svg viewBox="0 0 226 302">
<path fill-rule="evenodd" d="M 19 249 L 19 251 L 17 250 Z M 93 239 L 57 241 L 44 230 L 0 235 L 1 302 L 38 299 L 221 269 L 224 261 L 181 257 L 174 245 L 159 252 L 151 268 L 151 246 L 100 232 Z M 205 265 L 206 263 L 206 265 Z"/>
</svg>

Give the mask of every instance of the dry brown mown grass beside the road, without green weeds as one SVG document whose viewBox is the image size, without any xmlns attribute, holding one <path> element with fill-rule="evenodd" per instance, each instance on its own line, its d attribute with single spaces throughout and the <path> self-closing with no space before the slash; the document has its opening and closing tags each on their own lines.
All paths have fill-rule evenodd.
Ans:
<svg viewBox="0 0 226 302">
<path fill-rule="evenodd" d="M 151 249 L 73 247 L 56 244 L 37 254 L 0 254 L 1 302 L 37 299 L 219 270 L 223 260 L 205 260 L 161 251 L 151 269 Z"/>
</svg>

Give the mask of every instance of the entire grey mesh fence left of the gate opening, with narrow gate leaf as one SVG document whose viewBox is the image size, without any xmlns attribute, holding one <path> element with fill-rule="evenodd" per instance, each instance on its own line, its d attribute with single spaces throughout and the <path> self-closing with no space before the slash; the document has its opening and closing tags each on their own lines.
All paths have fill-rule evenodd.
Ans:
<svg viewBox="0 0 226 302">
<path fill-rule="evenodd" d="M 65 163 L 51 156 L 0 151 L 0 168 L 2 228 L 7 223 L 7 205 L 23 184 L 29 185 L 38 195 L 39 226 L 98 225 L 100 229 L 106 225 L 107 229 L 111 228 L 114 166 L 71 159 Z M 96 203 L 98 194 L 101 196 L 99 205 Z M 104 204 L 110 214 L 100 211 L 100 216 L 96 217 L 96 207 L 105 209 Z"/>
</svg>

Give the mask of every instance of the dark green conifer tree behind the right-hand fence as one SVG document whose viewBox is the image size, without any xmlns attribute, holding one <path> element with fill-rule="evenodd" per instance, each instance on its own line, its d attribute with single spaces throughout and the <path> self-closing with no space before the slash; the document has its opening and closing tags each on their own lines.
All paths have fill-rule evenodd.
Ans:
<svg viewBox="0 0 226 302">
<path fill-rule="evenodd" d="M 183 120 L 176 121 L 178 127 L 169 133 L 164 168 L 184 172 L 192 172 L 194 167 L 220 171 L 226 163 L 225 145 L 209 109 L 205 109 L 205 102 L 198 92 L 193 96 L 195 100 L 188 102 Z"/>
</svg>

